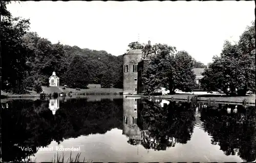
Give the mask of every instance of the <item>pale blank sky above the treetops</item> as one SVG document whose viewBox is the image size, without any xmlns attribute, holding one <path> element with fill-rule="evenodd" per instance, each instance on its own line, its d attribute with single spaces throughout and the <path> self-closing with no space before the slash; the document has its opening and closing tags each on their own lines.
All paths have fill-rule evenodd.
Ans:
<svg viewBox="0 0 256 163">
<path fill-rule="evenodd" d="M 30 19 L 30 31 L 52 43 L 123 55 L 134 41 L 165 43 L 204 64 L 220 55 L 224 40 L 238 41 L 254 21 L 253 1 L 20 2 L 7 6 Z"/>
</svg>

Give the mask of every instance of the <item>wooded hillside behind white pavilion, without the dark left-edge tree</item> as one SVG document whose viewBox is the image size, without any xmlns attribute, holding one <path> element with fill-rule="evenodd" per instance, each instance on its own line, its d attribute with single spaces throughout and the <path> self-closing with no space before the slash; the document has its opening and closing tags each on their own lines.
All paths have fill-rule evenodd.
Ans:
<svg viewBox="0 0 256 163">
<path fill-rule="evenodd" d="M 122 71 L 122 56 L 116 57 L 103 50 L 81 49 L 59 42 L 52 44 L 36 33 L 25 34 L 23 40 L 34 52 L 30 60 L 29 79 L 39 78 L 42 85 L 48 85 L 48 77 L 55 71 L 60 77 L 60 85 L 86 88 L 90 83 L 101 84 L 102 76 L 110 74 L 108 82 L 111 86 L 122 88 L 118 80 L 118 72 Z"/>
</svg>

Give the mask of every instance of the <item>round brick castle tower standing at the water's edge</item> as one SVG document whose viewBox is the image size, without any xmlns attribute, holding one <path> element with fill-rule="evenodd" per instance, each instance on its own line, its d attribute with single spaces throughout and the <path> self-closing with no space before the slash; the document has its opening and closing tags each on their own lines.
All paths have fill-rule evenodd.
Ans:
<svg viewBox="0 0 256 163">
<path fill-rule="evenodd" d="M 138 63 L 142 49 L 133 49 L 123 55 L 123 94 L 137 94 Z"/>
</svg>

